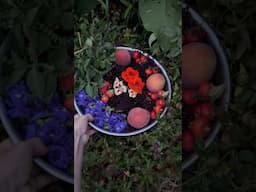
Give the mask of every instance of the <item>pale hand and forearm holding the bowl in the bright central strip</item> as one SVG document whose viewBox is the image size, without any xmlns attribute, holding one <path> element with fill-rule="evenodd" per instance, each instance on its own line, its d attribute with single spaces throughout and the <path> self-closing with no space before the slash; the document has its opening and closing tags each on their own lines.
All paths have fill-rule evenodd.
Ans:
<svg viewBox="0 0 256 192">
<path fill-rule="evenodd" d="M 74 188 L 75 192 L 79 192 L 81 188 L 81 169 L 84 145 L 88 142 L 91 135 L 96 131 L 91 129 L 88 125 L 89 121 L 93 121 L 91 115 L 75 115 L 74 117 L 74 131 L 75 131 L 75 161 L 74 161 Z"/>
</svg>

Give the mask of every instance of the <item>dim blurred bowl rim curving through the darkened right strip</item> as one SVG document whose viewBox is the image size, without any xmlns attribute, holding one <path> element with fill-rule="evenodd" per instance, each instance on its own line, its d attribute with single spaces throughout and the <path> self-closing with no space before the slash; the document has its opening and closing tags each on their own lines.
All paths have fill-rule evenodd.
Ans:
<svg viewBox="0 0 256 192">
<path fill-rule="evenodd" d="M 229 104 L 230 104 L 230 95 L 231 95 L 231 83 L 230 83 L 230 70 L 228 65 L 228 60 L 226 57 L 226 52 L 224 50 L 224 46 L 220 43 L 219 39 L 216 36 L 216 33 L 214 30 L 209 26 L 209 24 L 204 20 L 204 18 L 197 13 L 193 8 L 191 8 L 186 3 L 182 4 L 182 9 L 188 11 L 188 13 L 191 15 L 193 20 L 200 26 L 202 29 L 206 32 L 207 37 L 210 40 L 210 45 L 214 49 L 218 60 L 219 65 L 222 66 L 222 70 L 224 70 L 224 84 L 225 84 L 225 94 L 222 97 L 222 105 L 223 109 L 225 111 L 228 110 Z M 216 124 L 212 127 L 213 131 L 211 135 L 206 139 L 204 150 L 207 149 L 215 140 L 217 137 L 220 129 L 221 129 L 221 123 L 218 121 Z M 182 171 L 188 169 L 197 159 L 199 158 L 199 155 L 196 152 L 193 152 L 188 158 L 186 158 L 182 162 Z"/>
</svg>

